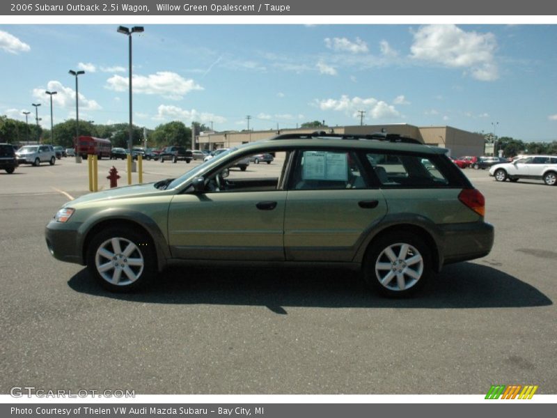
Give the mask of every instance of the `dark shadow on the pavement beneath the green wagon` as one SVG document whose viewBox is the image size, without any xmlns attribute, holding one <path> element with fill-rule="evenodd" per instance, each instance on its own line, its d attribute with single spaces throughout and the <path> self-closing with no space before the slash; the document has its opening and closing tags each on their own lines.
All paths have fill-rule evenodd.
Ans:
<svg viewBox="0 0 557 418">
<path fill-rule="evenodd" d="M 168 268 L 144 290 L 125 294 L 104 291 L 83 269 L 68 285 L 80 293 L 130 302 L 253 305 L 276 314 L 287 314 L 287 307 L 466 309 L 553 304 L 530 284 L 477 263 L 448 265 L 422 293 L 402 300 L 368 291 L 357 272 L 331 268 Z"/>
</svg>

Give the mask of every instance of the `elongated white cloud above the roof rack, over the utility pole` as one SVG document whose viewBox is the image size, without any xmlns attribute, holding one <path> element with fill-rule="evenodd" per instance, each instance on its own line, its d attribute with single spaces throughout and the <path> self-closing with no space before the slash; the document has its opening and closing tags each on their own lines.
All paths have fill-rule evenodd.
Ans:
<svg viewBox="0 0 557 418">
<path fill-rule="evenodd" d="M 360 110 L 366 111 L 372 119 L 400 117 L 400 113 L 393 105 L 375 98 L 350 98 L 342 95 L 340 99 L 315 100 L 314 104 L 322 110 L 342 111 L 354 118 L 359 117 Z"/>
</svg>

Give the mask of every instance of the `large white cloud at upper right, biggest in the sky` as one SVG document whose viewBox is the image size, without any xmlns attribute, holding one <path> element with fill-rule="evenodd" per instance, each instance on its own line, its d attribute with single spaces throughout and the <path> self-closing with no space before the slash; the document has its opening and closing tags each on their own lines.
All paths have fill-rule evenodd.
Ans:
<svg viewBox="0 0 557 418">
<path fill-rule="evenodd" d="M 411 58 L 450 68 L 464 68 L 472 77 L 492 81 L 499 77 L 494 59 L 493 33 L 465 32 L 454 24 L 422 26 L 414 32 Z"/>
</svg>

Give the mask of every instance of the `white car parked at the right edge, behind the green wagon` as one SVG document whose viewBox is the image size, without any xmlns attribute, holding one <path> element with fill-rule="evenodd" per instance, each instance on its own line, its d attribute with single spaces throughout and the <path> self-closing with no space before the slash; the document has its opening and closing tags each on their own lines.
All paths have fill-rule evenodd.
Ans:
<svg viewBox="0 0 557 418">
<path fill-rule="evenodd" d="M 544 180 L 548 186 L 554 186 L 557 184 L 557 155 L 528 155 L 514 162 L 496 164 L 489 169 L 489 176 L 497 181 Z"/>
</svg>

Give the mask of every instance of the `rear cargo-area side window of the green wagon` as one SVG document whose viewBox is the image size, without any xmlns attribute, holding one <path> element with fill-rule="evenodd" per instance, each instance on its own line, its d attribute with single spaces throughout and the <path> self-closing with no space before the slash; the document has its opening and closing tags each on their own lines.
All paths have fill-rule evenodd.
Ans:
<svg viewBox="0 0 557 418">
<path fill-rule="evenodd" d="M 366 155 L 382 187 L 443 187 L 449 184 L 432 157 L 418 155 Z"/>
</svg>

